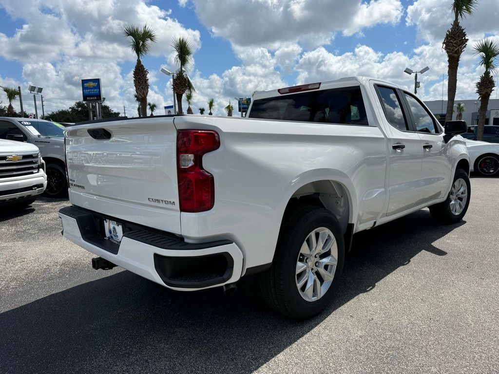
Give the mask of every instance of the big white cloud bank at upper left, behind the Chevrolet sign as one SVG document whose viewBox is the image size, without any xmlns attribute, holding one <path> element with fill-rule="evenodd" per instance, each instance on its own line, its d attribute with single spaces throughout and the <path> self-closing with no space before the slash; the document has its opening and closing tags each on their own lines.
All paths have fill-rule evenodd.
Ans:
<svg viewBox="0 0 499 374">
<path fill-rule="evenodd" d="M 173 61 L 174 36 L 186 37 L 194 51 L 201 47 L 198 30 L 184 27 L 170 16 L 170 9 L 145 0 L 1 0 L 0 7 L 24 22 L 12 35 L 0 33 L 0 57 L 22 64 L 21 87 L 43 86 L 47 111 L 81 100 L 80 80 L 90 77 L 103 78 L 106 104 L 113 110 L 123 113 L 123 104 L 137 106 L 131 72 L 122 72 L 123 62 L 136 59 L 122 34 L 127 23 L 147 23 L 156 31 L 153 56 Z M 147 59 L 143 59 L 146 68 Z M 154 72 L 149 77 L 153 84 Z M 163 105 L 156 86 L 151 86 L 149 96 Z M 26 111 L 32 110 L 31 103 L 26 100 Z"/>
</svg>

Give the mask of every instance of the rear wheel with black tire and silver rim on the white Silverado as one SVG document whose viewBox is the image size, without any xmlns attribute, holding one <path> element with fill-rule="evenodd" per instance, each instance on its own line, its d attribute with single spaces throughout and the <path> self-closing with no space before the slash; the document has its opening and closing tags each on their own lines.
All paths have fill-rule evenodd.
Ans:
<svg viewBox="0 0 499 374">
<path fill-rule="evenodd" d="M 318 257 L 314 251 L 307 252 L 311 235 L 320 242 L 325 238 L 326 247 L 330 249 Z M 319 250 L 318 245 L 316 249 Z M 303 252 L 308 253 L 308 261 Z M 285 213 L 272 266 L 260 276 L 263 297 L 271 308 L 285 316 L 299 320 L 315 316 L 330 301 L 344 261 L 345 245 L 336 217 L 319 206 L 297 205 Z M 299 273 L 298 267 L 302 268 Z M 300 288 L 298 283 L 303 282 L 303 277 L 305 283 Z M 312 285 L 311 291 L 309 285 Z"/>
</svg>

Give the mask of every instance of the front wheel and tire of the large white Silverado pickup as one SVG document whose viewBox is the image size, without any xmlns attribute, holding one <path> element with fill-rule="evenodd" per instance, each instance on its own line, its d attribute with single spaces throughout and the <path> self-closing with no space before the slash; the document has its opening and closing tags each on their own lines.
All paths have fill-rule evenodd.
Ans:
<svg viewBox="0 0 499 374">
<path fill-rule="evenodd" d="M 463 187 L 465 187 L 464 190 Z M 441 224 L 458 223 L 468 210 L 470 197 L 471 185 L 468 173 L 462 169 L 456 169 L 447 199 L 444 202 L 430 206 L 430 213 Z"/>
</svg>

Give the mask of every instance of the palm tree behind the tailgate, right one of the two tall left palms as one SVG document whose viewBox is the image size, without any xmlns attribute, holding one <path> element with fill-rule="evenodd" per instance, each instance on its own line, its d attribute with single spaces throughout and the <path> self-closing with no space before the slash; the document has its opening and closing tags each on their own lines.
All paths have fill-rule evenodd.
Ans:
<svg viewBox="0 0 499 374">
<path fill-rule="evenodd" d="M 192 45 L 184 37 L 179 37 L 173 40 L 173 49 L 175 49 L 175 61 L 180 65 L 180 69 L 175 74 L 173 79 L 173 91 L 177 96 L 178 113 L 183 114 L 182 111 L 182 96 L 186 92 L 194 92 L 194 86 L 186 74 L 186 70 L 191 67 L 193 61 Z"/>
</svg>

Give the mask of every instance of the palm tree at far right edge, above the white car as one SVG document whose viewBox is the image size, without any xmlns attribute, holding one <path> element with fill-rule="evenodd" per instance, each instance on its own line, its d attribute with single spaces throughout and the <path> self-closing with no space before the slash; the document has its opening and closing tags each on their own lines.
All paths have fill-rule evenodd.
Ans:
<svg viewBox="0 0 499 374">
<path fill-rule="evenodd" d="M 491 73 L 498 71 L 499 44 L 492 39 L 484 39 L 478 41 L 473 50 L 475 51 L 475 55 L 480 56 L 479 66 L 485 68 L 484 73 L 477 82 L 477 93 L 480 100 L 477 140 L 483 140 L 487 107 L 489 106 L 492 91 L 494 91 L 494 87 L 496 86 Z"/>
</svg>

